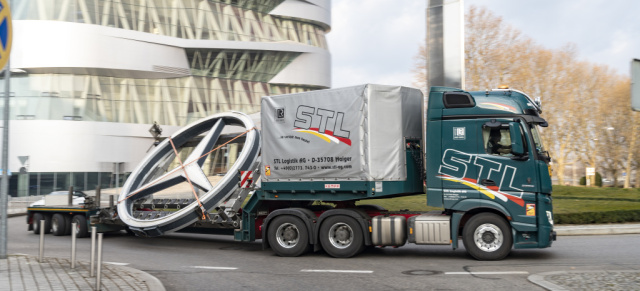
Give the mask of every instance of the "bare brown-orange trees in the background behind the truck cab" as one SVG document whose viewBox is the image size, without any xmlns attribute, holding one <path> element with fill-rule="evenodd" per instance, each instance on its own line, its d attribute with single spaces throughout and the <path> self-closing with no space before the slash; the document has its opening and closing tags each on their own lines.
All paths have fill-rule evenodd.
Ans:
<svg viewBox="0 0 640 291">
<path fill-rule="evenodd" d="M 469 90 L 506 84 L 539 96 L 542 131 L 553 157 L 554 175 L 564 184 L 565 166 L 600 168 L 614 180 L 621 171 L 638 172 L 640 117 L 629 107 L 629 78 L 607 66 L 577 58 L 575 45 L 549 50 L 505 23 L 486 8 L 472 6 L 465 15 L 465 79 Z M 425 92 L 427 51 L 415 56 L 414 85 Z M 574 180 L 574 183 L 576 181 Z M 625 181 L 628 187 L 629 181 Z"/>
</svg>

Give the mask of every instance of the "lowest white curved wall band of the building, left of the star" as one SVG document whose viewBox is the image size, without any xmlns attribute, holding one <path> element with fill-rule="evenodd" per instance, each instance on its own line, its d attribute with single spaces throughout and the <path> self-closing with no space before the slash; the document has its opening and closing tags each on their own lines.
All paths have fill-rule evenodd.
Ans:
<svg viewBox="0 0 640 291">
<path fill-rule="evenodd" d="M 129 172 L 154 142 L 150 124 L 12 120 L 9 128 L 13 172 L 22 166 L 19 156 L 29 156 L 29 172 L 110 172 L 112 163 L 124 163 L 122 171 Z M 162 135 L 179 128 L 162 126 Z"/>
</svg>

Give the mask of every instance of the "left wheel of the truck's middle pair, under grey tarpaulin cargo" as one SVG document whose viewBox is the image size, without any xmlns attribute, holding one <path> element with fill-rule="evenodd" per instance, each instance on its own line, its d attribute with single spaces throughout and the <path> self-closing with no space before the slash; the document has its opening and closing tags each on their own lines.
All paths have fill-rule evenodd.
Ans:
<svg viewBox="0 0 640 291">
<path fill-rule="evenodd" d="M 269 245 L 281 257 L 297 257 L 309 251 L 309 230 L 300 218 L 282 215 L 269 223 Z"/>
</svg>

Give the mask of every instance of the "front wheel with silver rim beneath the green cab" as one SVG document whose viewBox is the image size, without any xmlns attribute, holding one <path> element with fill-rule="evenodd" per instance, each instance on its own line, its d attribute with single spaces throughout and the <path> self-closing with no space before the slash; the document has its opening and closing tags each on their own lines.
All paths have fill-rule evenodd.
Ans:
<svg viewBox="0 0 640 291">
<path fill-rule="evenodd" d="M 481 261 L 501 260 L 511 251 L 511 228 L 493 213 L 477 214 L 464 226 L 462 241 L 472 257 Z"/>
</svg>

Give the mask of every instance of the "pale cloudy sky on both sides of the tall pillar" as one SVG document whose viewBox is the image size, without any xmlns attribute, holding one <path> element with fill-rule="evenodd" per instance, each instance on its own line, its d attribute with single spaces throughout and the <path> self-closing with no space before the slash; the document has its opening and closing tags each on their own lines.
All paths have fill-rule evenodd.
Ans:
<svg viewBox="0 0 640 291">
<path fill-rule="evenodd" d="M 463 0 L 486 7 L 547 49 L 575 45 L 580 60 L 630 75 L 640 59 L 638 0 Z M 427 0 L 332 0 L 332 87 L 411 86 Z"/>
</svg>

